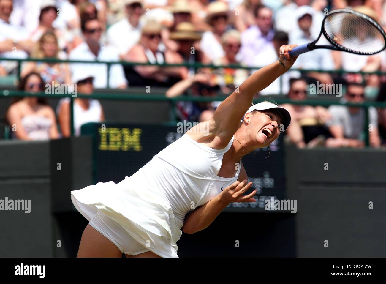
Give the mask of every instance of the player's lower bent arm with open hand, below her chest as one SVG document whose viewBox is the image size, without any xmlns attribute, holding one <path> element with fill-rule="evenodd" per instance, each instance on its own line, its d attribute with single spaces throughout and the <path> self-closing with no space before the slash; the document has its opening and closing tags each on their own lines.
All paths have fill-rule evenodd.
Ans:
<svg viewBox="0 0 386 284">
<path fill-rule="evenodd" d="M 252 182 L 243 180 L 242 182 L 236 181 L 225 187 L 218 196 L 189 214 L 182 227 L 183 232 L 193 234 L 204 230 L 230 202 L 256 202 L 252 198 L 256 194 L 256 190 L 248 195 L 243 195 L 251 186 Z"/>
</svg>

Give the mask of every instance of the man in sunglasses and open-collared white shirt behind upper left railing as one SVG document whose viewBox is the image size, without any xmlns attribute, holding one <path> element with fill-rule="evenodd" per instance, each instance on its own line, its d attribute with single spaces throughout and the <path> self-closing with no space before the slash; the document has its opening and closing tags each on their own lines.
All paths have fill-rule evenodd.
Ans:
<svg viewBox="0 0 386 284">
<path fill-rule="evenodd" d="M 112 46 L 104 46 L 99 43 L 102 36 L 102 27 L 98 19 L 83 19 L 81 28 L 85 41 L 71 51 L 69 54 L 70 60 L 119 61 L 119 54 Z M 124 70 L 120 64 L 110 66 L 109 82 L 107 82 L 107 64 L 72 63 L 70 68 L 72 73 L 77 70 L 84 70 L 85 73 L 93 74 L 95 88 L 127 87 Z"/>
</svg>

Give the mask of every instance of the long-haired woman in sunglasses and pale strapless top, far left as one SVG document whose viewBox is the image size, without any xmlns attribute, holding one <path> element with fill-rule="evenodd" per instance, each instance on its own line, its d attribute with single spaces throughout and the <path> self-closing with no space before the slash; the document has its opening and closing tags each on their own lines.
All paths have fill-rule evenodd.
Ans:
<svg viewBox="0 0 386 284">
<path fill-rule="evenodd" d="M 44 83 L 38 73 L 27 74 L 19 83 L 18 90 L 35 93 L 44 91 Z M 56 117 L 46 99 L 38 97 L 14 98 L 5 114 L 12 138 L 22 140 L 48 140 L 59 138 Z"/>
</svg>

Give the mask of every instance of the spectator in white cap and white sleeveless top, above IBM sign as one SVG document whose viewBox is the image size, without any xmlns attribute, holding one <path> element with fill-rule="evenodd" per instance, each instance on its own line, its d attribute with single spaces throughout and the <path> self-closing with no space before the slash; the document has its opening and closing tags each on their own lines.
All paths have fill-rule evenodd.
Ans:
<svg viewBox="0 0 386 284">
<path fill-rule="evenodd" d="M 73 74 L 73 82 L 77 84 L 77 92 L 83 95 L 93 93 L 94 77 L 91 73 L 77 71 Z M 70 123 L 70 98 L 66 97 L 59 101 L 56 112 L 63 137 L 71 136 Z M 96 99 L 76 98 L 74 99 L 74 134 L 80 136 L 80 128 L 88 122 L 100 122 L 105 119 L 102 105 Z"/>
</svg>

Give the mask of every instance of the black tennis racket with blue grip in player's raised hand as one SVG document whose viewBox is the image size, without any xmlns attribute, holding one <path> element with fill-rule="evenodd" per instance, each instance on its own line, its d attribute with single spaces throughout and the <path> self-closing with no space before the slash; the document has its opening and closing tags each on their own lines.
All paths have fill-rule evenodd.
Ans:
<svg viewBox="0 0 386 284">
<path fill-rule="evenodd" d="M 315 45 L 322 34 L 332 45 Z M 324 17 L 316 41 L 296 46 L 289 55 L 293 57 L 317 48 L 371 55 L 383 51 L 385 41 L 386 34 L 376 21 L 354 10 L 338 9 Z"/>
</svg>

